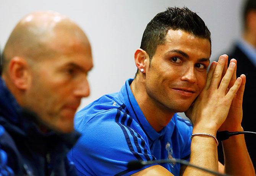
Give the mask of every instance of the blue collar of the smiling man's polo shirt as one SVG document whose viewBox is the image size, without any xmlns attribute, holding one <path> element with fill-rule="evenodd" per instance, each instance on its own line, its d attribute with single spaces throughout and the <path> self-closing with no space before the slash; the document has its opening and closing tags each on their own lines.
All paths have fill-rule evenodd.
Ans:
<svg viewBox="0 0 256 176">
<path fill-rule="evenodd" d="M 133 79 L 128 79 L 125 82 L 125 85 L 122 87 L 120 93 L 122 94 L 122 99 L 124 99 L 124 103 L 128 108 L 128 111 L 130 112 L 130 115 L 133 117 L 133 119 L 141 126 L 144 133 L 147 135 L 149 140 L 154 141 L 161 136 L 163 136 L 166 132 L 166 127 L 164 127 L 160 132 L 157 132 L 147 121 L 146 117 L 144 116 L 143 112 L 141 111 L 141 108 L 139 107 L 133 93 L 131 92 L 131 82 Z M 175 114 L 173 117 L 177 117 L 177 114 Z M 173 119 L 173 118 L 172 118 Z M 170 124 L 174 123 L 171 121 Z M 173 131 L 173 128 L 172 128 Z"/>
</svg>

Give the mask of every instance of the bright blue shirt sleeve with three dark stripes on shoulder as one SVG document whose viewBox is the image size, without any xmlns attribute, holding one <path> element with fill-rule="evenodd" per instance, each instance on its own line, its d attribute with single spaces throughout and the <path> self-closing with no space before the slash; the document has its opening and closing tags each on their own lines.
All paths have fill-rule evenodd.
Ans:
<svg viewBox="0 0 256 176">
<path fill-rule="evenodd" d="M 86 118 L 86 117 L 84 117 Z M 110 109 L 79 125 L 80 139 L 68 154 L 80 175 L 125 176 L 139 170 L 128 170 L 132 160 L 155 160 L 146 135 L 131 128 L 134 120 L 120 109 Z M 82 129 L 82 130 L 81 130 Z"/>
</svg>

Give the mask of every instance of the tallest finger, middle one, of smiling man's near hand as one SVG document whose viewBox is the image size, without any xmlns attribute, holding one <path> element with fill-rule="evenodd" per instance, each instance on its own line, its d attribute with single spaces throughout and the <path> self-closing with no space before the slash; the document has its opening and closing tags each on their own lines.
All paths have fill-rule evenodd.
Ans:
<svg viewBox="0 0 256 176">
<path fill-rule="evenodd" d="M 222 76 L 222 71 L 224 69 L 226 60 L 227 60 L 227 55 L 226 54 L 221 55 L 219 57 L 218 64 L 216 65 L 216 68 L 215 68 L 214 73 L 212 75 L 212 82 L 211 82 L 212 87 L 215 87 L 215 88 L 219 87 L 220 79 L 221 79 L 221 76 Z"/>
</svg>

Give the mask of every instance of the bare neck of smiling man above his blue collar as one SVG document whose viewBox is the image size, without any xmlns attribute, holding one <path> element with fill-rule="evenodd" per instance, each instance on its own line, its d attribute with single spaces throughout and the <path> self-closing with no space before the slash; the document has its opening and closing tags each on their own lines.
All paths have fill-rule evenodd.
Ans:
<svg viewBox="0 0 256 176">
<path fill-rule="evenodd" d="M 174 112 L 170 111 L 160 103 L 153 100 L 147 94 L 146 87 L 141 78 L 137 77 L 131 83 L 131 92 L 133 93 L 139 108 L 143 112 L 149 124 L 160 132 L 167 124 L 169 124 Z"/>
</svg>

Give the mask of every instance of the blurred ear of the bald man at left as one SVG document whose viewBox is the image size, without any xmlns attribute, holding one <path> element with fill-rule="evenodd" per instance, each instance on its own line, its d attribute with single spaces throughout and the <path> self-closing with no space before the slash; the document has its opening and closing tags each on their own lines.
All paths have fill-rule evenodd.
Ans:
<svg viewBox="0 0 256 176">
<path fill-rule="evenodd" d="M 13 57 L 9 64 L 9 75 L 11 81 L 18 89 L 26 90 L 29 86 L 28 62 L 22 57 Z"/>
</svg>

